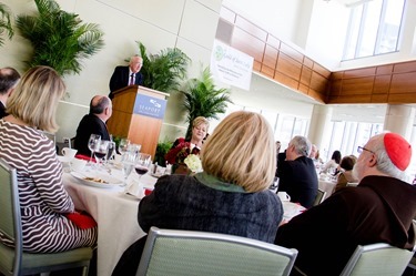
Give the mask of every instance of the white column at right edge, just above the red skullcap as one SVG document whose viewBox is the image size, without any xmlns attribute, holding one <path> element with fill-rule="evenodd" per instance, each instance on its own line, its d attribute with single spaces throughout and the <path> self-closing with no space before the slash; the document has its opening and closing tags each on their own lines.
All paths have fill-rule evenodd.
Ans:
<svg viewBox="0 0 416 276">
<path fill-rule="evenodd" d="M 404 104 L 388 104 L 384 119 L 384 130 L 398 133 L 409 141 L 414 120 L 414 108 Z"/>
</svg>

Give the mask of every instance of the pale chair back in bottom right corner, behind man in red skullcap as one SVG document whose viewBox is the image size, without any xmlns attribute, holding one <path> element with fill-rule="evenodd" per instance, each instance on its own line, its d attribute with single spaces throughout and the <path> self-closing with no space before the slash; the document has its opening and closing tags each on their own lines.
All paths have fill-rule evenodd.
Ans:
<svg viewBox="0 0 416 276">
<path fill-rule="evenodd" d="M 415 248 L 407 251 L 385 243 L 358 245 L 341 276 L 402 275 Z"/>
</svg>

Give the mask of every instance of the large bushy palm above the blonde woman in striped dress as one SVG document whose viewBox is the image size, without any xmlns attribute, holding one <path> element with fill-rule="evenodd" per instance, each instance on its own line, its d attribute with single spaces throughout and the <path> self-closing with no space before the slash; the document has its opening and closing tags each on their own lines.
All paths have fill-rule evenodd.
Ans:
<svg viewBox="0 0 416 276">
<path fill-rule="evenodd" d="M 104 45 L 98 24 L 82 23 L 54 0 L 34 0 L 38 13 L 18 16 L 16 24 L 21 35 L 33 47 L 29 68 L 49 65 L 61 75 L 81 72 L 81 60 L 88 59 Z"/>
</svg>

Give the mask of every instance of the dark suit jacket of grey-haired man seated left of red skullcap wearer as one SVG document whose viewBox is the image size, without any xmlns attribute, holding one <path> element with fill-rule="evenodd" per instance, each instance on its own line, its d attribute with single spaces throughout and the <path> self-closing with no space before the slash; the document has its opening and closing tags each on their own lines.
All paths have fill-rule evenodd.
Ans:
<svg viewBox="0 0 416 276">
<path fill-rule="evenodd" d="M 284 161 L 280 166 L 278 192 L 286 192 L 291 196 L 291 202 L 298 202 L 306 208 L 311 207 L 318 182 L 312 159 L 301 156 L 294 161 Z"/>
</svg>

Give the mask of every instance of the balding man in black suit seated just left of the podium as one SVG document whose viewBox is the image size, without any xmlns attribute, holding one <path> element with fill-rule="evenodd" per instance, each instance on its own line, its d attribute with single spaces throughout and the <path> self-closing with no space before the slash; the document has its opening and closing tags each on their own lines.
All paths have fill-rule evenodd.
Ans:
<svg viewBox="0 0 416 276">
<path fill-rule="evenodd" d="M 105 95 L 94 95 L 90 102 L 90 113 L 84 115 L 78 125 L 74 147 L 78 154 L 91 155 L 88 141 L 91 134 L 101 135 L 101 140 L 111 140 L 105 122 L 111 117 L 112 103 Z"/>
</svg>

